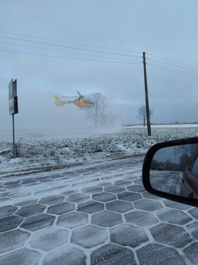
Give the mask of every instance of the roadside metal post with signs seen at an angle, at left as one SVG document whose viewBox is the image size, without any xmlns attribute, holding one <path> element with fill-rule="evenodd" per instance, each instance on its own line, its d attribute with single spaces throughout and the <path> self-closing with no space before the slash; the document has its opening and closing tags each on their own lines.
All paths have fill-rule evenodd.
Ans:
<svg viewBox="0 0 198 265">
<path fill-rule="evenodd" d="M 16 95 L 16 79 L 11 79 L 9 86 L 9 115 L 12 115 L 12 134 L 13 134 L 13 157 L 15 158 L 15 123 L 14 114 L 18 113 L 18 98 Z"/>
</svg>

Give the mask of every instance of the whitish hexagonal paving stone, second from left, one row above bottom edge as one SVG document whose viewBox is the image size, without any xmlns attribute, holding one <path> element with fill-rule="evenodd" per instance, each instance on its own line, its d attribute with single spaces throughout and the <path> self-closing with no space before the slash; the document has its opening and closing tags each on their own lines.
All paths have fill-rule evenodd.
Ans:
<svg viewBox="0 0 198 265">
<path fill-rule="evenodd" d="M 50 240 L 51 239 L 51 240 Z M 47 242 L 47 244 L 46 244 Z M 50 227 L 32 235 L 30 246 L 48 251 L 68 242 L 68 231 Z"/>
</svg>

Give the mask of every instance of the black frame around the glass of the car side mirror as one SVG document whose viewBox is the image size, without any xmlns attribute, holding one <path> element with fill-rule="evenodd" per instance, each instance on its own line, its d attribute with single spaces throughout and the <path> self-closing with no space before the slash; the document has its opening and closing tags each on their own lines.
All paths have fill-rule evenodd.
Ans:
<svg viewBox="0 0 198 265">
<path fill-rule="evenodd" d="M 155 144 L 153 145 L 149 151 L 146 153 L 146 156 L 144 158 L 144 163 L 143 163 L 143 169 L 142 169 L 142 181 L 143 181 L 143 185 L 144 188 L 151 194 L 165 198 L 165 199 L 169 199 L 169 200 L 173 200 L 179 203 L 185 203 L 188 205 L 192 205 L 192 206 L 196 206 L 198 207 L 198 199 L 194 199 L 194 198 L 188 198 L 188 197 L 183 197 L 181 195 L 176 195 L 176 194 L 172 194 L 172 193 L 168 193 L 165 191 L 157 190 L 154 187 L 152 187 L 151 184 L 151 179 L 150 179 L 150 172 L 151 172 L 151 164 L 153 161 L 153 157 L 156 154 L 156 152 L 158 150 L 160 150 L 161 148 L 167 148 L 167 147 L 175 147 L 175 146 L 182 146 L 182 145 L 186 145 L 186 144 L 198 144 L 198 137 L 194 137 L 194 138 L 185 138 L 185 139 L 178 139 L 178 140 L 171 140 L 171 141 L 167 141 L 167 142 L 162 142 L 159 144 Z M 161 170 L 161 169 L 158 169 Z M 159 181 L 159 176 L 160 174 L 162 175 L 163 171 L 157 171 L 157 176 L 158 176 L 158 181 Z M 183 173 L 183 172 L 182 172 Z M 166 190 L 166 189 L 165 189 Z"/>
</svg>

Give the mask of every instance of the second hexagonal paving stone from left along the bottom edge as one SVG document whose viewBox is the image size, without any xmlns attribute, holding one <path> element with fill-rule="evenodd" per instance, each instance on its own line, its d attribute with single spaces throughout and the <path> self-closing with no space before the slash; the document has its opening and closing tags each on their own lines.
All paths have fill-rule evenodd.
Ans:
<svg viewBox="0 0 198 265">
<path fill-rule="evenodd" d="M 73 246 L 65 246 L 64 248 L 48 253 L 42 264 L 86 265 L 86 255 L 80 249 L 74 248 Z"/>
</svg>

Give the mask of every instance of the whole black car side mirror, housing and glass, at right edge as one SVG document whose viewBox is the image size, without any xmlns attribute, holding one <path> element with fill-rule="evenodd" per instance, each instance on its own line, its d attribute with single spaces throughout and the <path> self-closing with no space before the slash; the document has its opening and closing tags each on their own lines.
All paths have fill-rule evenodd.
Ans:
<svg viewBox="0 0 198 265">
<path fill-rule="evenodd" d="M 198 207 L 198 137 L 153 145 L 142 180 L 151 194 Z"/>
</svg>

